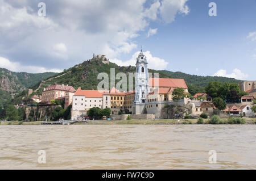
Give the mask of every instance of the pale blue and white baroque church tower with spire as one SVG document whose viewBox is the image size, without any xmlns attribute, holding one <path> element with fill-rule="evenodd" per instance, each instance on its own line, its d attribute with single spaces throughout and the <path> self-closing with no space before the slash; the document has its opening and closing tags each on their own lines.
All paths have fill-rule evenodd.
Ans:
<svg viewBox="0 0 256 181">
<path fill-rule="evenodd" d="M 148 94 L 148 70 L 147 57 L 143 54 L 142 49 L 137 57 L 136 74 L 135 74 L 135 98 L 133 103 L 133 114 L 143 113 L 146 98 Z"/>
</svg>

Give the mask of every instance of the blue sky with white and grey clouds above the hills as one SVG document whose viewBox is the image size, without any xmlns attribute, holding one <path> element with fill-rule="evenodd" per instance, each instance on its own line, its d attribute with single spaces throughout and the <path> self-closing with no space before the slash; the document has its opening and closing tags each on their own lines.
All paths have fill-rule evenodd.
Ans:
<svg viewBox="0 0 256 181">
<path fill-rule="evenodd" d="M 256 0 L 0 0 L 0 68 L 60 72 L 93 53 L 129 66 L 142 46 L 151 69 L 256 80 L 255 19 Z"/>
</svg>

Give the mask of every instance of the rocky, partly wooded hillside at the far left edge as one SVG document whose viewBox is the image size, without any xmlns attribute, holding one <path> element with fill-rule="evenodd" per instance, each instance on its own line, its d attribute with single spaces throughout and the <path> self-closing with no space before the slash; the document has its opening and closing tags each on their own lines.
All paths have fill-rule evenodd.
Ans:
<svg viewBox="0 0 256 181">
<path fill-rule="evenodd" d="M 47 72 L 30 74 L 25 72 L 16 73 L 0 68 L 0 104 L 14 98 L 28 87 L 34 86 L 39 81 L 46 79 L 56 73 Z"/>
</svg>

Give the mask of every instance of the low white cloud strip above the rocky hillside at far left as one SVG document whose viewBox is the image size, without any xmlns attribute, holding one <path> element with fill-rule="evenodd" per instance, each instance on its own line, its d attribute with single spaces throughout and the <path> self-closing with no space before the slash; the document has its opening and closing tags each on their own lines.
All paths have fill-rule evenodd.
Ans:
<svg viewBox="0 0 256 181">
<path fill-rule="evenodd" d="M 44 73 L 47 71 L 51 72 L 61 72 L 63 70 L 60 69 L 46 69 L 44 67 L 40 66 L 24 66 L 20 65 L 19 62 L 11 62 L 7 58 L 0 57 L 0 67 L 8 69 L 10 71 L 15 71 L 15 72 L 29 72 L 29 73 Z"/>
</svg>

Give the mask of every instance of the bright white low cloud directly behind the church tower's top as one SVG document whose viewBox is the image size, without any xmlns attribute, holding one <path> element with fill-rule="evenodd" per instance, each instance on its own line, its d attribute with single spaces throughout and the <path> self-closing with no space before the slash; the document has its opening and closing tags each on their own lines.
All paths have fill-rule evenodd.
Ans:
<svg viewBox="0 0 256 181">
<path fill-rule="evenodd" d="M 146 51 L 143 53 L 147 57 L 148 68 L 154 69 L 154 70 L 163 70 L 167 68 L 167 65 L 168 65 L 167 61 L 159 57 L 153 57 L 150 51 Z M 121 60 L 118 60 L 117 58 L 110 59 L 110 61 L 120 66 L 129 66 L 129 65 L 135 66 L 138 54 L 139 52 L 134 53 L 131 59 L 127 61 L 121 61 Z"/>
</svg>

